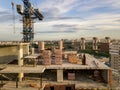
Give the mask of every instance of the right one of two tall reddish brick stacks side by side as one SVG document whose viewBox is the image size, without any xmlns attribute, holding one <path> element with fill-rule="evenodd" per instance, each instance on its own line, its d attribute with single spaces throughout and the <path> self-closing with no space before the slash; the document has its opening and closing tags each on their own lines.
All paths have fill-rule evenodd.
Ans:
<svg viewBox="0 0 120 90">
<path fill-rule="evenodd" d="M 62 64 L 62 50 L 55 50 L 55 64 Z"/>
</svg>

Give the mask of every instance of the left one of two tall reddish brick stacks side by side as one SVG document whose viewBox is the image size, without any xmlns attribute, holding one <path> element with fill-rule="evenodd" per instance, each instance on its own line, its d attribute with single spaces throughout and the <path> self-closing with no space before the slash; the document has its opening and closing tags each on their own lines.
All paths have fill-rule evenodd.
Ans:
<svg viewBox="0 0 120 90">
<path fill-rule="evenodd" d="M 44 65 L 51 65 L 51 52 L 49 50 L 43 51 L 43 60 Z"/>
</svg>

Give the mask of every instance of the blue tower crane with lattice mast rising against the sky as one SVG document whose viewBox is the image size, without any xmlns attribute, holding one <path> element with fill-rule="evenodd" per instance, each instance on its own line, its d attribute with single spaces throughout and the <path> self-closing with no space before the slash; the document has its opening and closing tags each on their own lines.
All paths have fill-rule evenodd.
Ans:
<svg viewBox="0 0 120 90">
<path fill-rule="evenodd" d="M 21 5 L 17 5 L 17 12 L 22 15 L 23 21 L 23 42 L 32 42 L 34 39 L 34 25 L 33 20 L 43 20 L 43 15 L 38 9 L 34 9 L 29 0 L 22 0 L 24 8 L 22 10 Z"/>
</svg>

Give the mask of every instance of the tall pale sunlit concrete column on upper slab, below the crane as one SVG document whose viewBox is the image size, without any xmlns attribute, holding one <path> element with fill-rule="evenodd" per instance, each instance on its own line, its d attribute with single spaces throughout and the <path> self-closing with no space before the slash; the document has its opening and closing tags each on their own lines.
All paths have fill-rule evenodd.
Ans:
<svg viewBox="0 0 120 90">
<path fill-rule="evenodd" d="M 18 65 L 23 66 L 23 45 L 22 43 L 18 46 Z"/>
</svg>

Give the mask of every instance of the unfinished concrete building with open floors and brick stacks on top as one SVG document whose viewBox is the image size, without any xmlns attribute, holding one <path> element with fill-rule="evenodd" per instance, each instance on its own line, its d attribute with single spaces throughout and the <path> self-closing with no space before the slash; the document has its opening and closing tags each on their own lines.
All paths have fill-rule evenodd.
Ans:
<svg viewBox="0 0 120 90">
<path fill-rule="evenodd" d="M 62 53 L 60 49 L 55 52 L 44 50 L 42 54 L 35 53 L 23 57 L 22 45 L 21 43 L 19 46 L 18 65 L 7 65 L 0 71 L 2 75 L 9 73 L 19 79 L 19 83 L 10 81 L 13 83 L 13 87 L 9 87 L 10 90 L 15 88 L 21 88 L 21 90 L 24 88 L 30 90 L 36 88 L 40 90 L 108 90 L 108 86 L 112 85 L 111 69 L 88 54 L 84 56 L 84 62 L 79 58 L 79 54 L 72 52 L 65 53 L 67 57 L 64 60 L 62 57 L 64 52 Z M 48 64 L 47 62 L 46 64 L 45 60 L 55 63 Z M 9 85 L 8 82 L 3 88 L 8 89 Z"/>
</svg>

